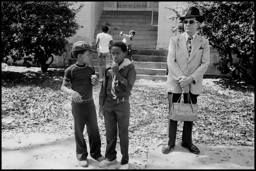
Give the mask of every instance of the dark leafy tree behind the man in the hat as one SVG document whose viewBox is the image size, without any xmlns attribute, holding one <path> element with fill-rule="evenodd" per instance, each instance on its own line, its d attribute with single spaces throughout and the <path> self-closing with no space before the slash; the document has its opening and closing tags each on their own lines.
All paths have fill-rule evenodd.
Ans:
<svg viewBox="0 0 256 171">
<path fill-rule="evenodd" d="M 197 34 L 217 49 L 220 58 L 213 66 L 224 75 L 230 73 L 235 80 L 254 79 L 254 2 L 185 3 L 197 7 L 205 17 Z M 186 6 L 168 8 L 175 12 L 168 19 L 186 15 Z M 175 31 L 184 32 L 183 25 L 173 27 L 172 32 Z"/>
</svg>

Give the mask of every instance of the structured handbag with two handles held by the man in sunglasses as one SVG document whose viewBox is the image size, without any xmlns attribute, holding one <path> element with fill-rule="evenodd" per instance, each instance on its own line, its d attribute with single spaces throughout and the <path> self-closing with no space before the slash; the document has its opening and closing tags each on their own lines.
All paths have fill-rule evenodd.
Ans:
<svg viewBox="0 0 256 171">
<path fill-rule="evenodd" d="M 188 94 L 189 95 L 189 94 Z M 180 102 L 172 103 L 171 111 L 169 113 L 169 118 L 174 121 L 197 121 L 197 112 L 199 109 L 198 104 L 192 104 L 191 98 L 189 103 L 182 103 L 183 93 L 181 97 L 178 99 Z"/>
</svg>

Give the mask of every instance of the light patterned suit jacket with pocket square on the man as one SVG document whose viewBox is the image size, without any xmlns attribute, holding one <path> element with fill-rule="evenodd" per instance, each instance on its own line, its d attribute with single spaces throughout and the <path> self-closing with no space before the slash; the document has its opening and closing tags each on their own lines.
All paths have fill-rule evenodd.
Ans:
<svg viewBox="0 0 256 171">
<path fill-rule="evenodd" d="M 182 93 L 177 77 L 192 76 L 195 80 L 190 83 L 192 94 L 203 93 L 203 75 L 210 63 L 209 41 L 200 35 L 195 36 L 190 56 L 186 47 L 185 32 L 170 39 L 167 56 L 168 76 L 166 91 Z"/>
</svg>

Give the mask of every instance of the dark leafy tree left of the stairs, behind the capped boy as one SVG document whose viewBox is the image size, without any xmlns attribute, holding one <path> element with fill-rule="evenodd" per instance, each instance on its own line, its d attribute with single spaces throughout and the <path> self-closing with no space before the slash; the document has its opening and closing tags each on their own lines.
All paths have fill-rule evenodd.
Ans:
<svg viewBox="0 0 256 171">
<path fill-rule="evenodd" d="M 2 2 L 2 62 L 11 56 L 46 72 L 52 54 L 66 52 L 67 38 L 83 27 L 75 19 L 82 7 L 75 8 L 74 2 Z"/>
</svg>

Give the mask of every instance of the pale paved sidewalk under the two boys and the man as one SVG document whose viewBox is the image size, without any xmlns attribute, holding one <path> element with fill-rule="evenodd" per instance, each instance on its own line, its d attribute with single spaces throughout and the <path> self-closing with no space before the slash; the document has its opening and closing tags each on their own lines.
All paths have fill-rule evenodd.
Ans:
<svg viewBox="0 0 256 171">
<path fill-rule="evenodd" d="M 136 83 L 134 86 L 164 88 L 165 83 Z M 98 93 L 93 93 L 98 111 Z M 68 104 L 70 106 L 70 104 Z M 129 169 L 254 169 L 254 147 L 195 144 L 200 154 L 176 144 L 169 154 L 161 152 L 164 142 L 150 142 L 147 148 L 129 147 Z M 89 147 L 89 144 L 87 144 Z M 105 156 L 106 144 L 101 154 Z M 122 155 L 117 144 L 117 163 L 98 167 L 88 155 L 88 166 L 76 159 L 74 136 L 49 133 L 2 133 L 2 169 L 119 169 Z"/>
</svg>

